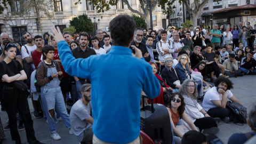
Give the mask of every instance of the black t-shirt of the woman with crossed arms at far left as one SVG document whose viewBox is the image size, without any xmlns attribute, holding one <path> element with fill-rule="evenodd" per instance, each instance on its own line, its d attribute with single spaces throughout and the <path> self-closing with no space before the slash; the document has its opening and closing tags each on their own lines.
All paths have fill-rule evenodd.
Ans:
<svg viewBox="0 0 256 144">
<path fill-rule="evenodd" d="M 18 68 L 15 66 L 14 62 L 11 61 L 10 63 L 7 63 L 7 66 L 6 66 L 6 71 L 7 71 L 7 67 L 10 68 L 10 70 L 14 73 L 14 75 L 17 75 L 17 74 L 20 74 L 20 71 L 23 70 L 22 66 L 20 65 L 20 62 L 15 60 L 17 63 L 18 63 Z M 5 62 L 5 61 L 3 61 Z M 8 75 L 9 77 L 11 76 L 9 73 L 7 73 L 5 70 L 4 70 L 4 67 L 2 65 L 2 63 L 0 62 L 0 77 L 1 77 L 1 82 L 2 82 L 2 77 L 3 75 Z M 12 83 L 6 83 L 4 82 L 3 85 L 9 85 L 9 86 L 12 86 Z"/>
</svg>

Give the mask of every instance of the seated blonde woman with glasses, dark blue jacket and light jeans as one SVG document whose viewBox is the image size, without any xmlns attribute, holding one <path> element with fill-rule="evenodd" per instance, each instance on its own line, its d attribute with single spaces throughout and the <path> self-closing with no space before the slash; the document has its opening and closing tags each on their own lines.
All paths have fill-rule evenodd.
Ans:
<svg viewBox="0 0 256 144">
<path fill-rule="evenodd" d="M 183 79 L 183 81 L 185 81 L 185 79 L 189 78 L 191 79 L 191 71 L 189 71 L 188 68 L 188 55 L 187 54 L 181 54 L 180 55 L 180 59 L 178 60 L 179 63 L 175 66 L 175 69 L 177 70 L 177 72 L 179 73 L 179 75 L 181 76 L 181 78 Z M 196 81 L 197 85 L 197 90 L 198 90 L 198 95 L 200 97 L 203 96 L 203 81 L 201 77 L 197 77 L 195 75 L 193 75 L 193 79 Z M 202 91 L 201 91 L 202 89 Z"/>
</svg>

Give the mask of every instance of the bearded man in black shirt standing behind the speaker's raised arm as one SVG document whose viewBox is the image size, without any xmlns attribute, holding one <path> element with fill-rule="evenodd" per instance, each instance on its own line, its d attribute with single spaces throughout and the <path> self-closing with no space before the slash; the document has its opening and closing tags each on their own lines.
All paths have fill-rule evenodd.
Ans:
<svg viewBox="0 0 256 144">
<path fill-rule="evenodd" d="M 85 59 L 90 57 L 90 55 L 96 54 L 96 52 L 93 49 L 90 49 L 89 47 L 87 47 L 88 38 L 89 38 L 89 35 L 86 32 L 81 32 L 79 34 L 79 46 L 71 51 L 76 59 L 78 58 Z M 72 86 L 72 92 L 77 92 L 77 94 L 73 93 L 73 102 L 76 102 L 78 99 L 82 98 L 82 94 L 80 91 L 81 86 L 83 84 L 88 83 L 87 81 L 89 81 L 89 79 L 79 78 L 76 76 L 74 76 L 74 79 L 75 79 L 76 87 Z M 76 95 L 78 98 L 76 98 Z"/>
</svg>

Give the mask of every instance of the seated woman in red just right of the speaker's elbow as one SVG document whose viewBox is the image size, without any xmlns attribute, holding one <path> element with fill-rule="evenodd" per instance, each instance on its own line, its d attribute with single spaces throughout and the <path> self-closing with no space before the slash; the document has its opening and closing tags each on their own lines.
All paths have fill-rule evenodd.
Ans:
<svg viewBox="0 0 256 144">
<path fill-rule="evenodd" d="M 160 86 L 161 86 L 161 92 L 160 92 L 160 95 L 156 98 L 153 99 L 154 103 L 161 103 L 162 105 L 165 105 L 164 103 L 164 98 L 163 98 L 163 93 L 166 92 L 167 90 L 172 90 L 172 87 L 170 87 L 169 85 L 167 85 L 163 79 L 158 76 L 156 74 L 157 70 L 158 70 L 158 67 L 156 65 L 155 62 L 151 62 L 149 61 L 149 64 L 151 65 L 152 69 L 153 69 L 153 74 L 157 77 L 159 83 L 160 83 Z M 150 101 L 148 101 L 148 103 L 151 103 Z M 167 103 L 167 101 L 166 101 Z"/>
</svg>

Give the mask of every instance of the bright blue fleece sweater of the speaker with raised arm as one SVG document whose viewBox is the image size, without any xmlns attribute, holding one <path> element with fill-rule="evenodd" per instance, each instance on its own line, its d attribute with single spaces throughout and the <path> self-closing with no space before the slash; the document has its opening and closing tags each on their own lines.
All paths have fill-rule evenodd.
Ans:
<svg viewBox="0 0 256 144">
<path fill-rule="evenodd" d="M 132 50 L 122 46 L 86 59 L 75 59 L 65 41 L 58 43 L 58 51 L 69 75 L 91 81 L 95 136 L 110 143 L 129 143 L 139 137 L 141 89 L 150 98 L 160 93 L 149 63 L 132 57 Z"/>
</svg>

